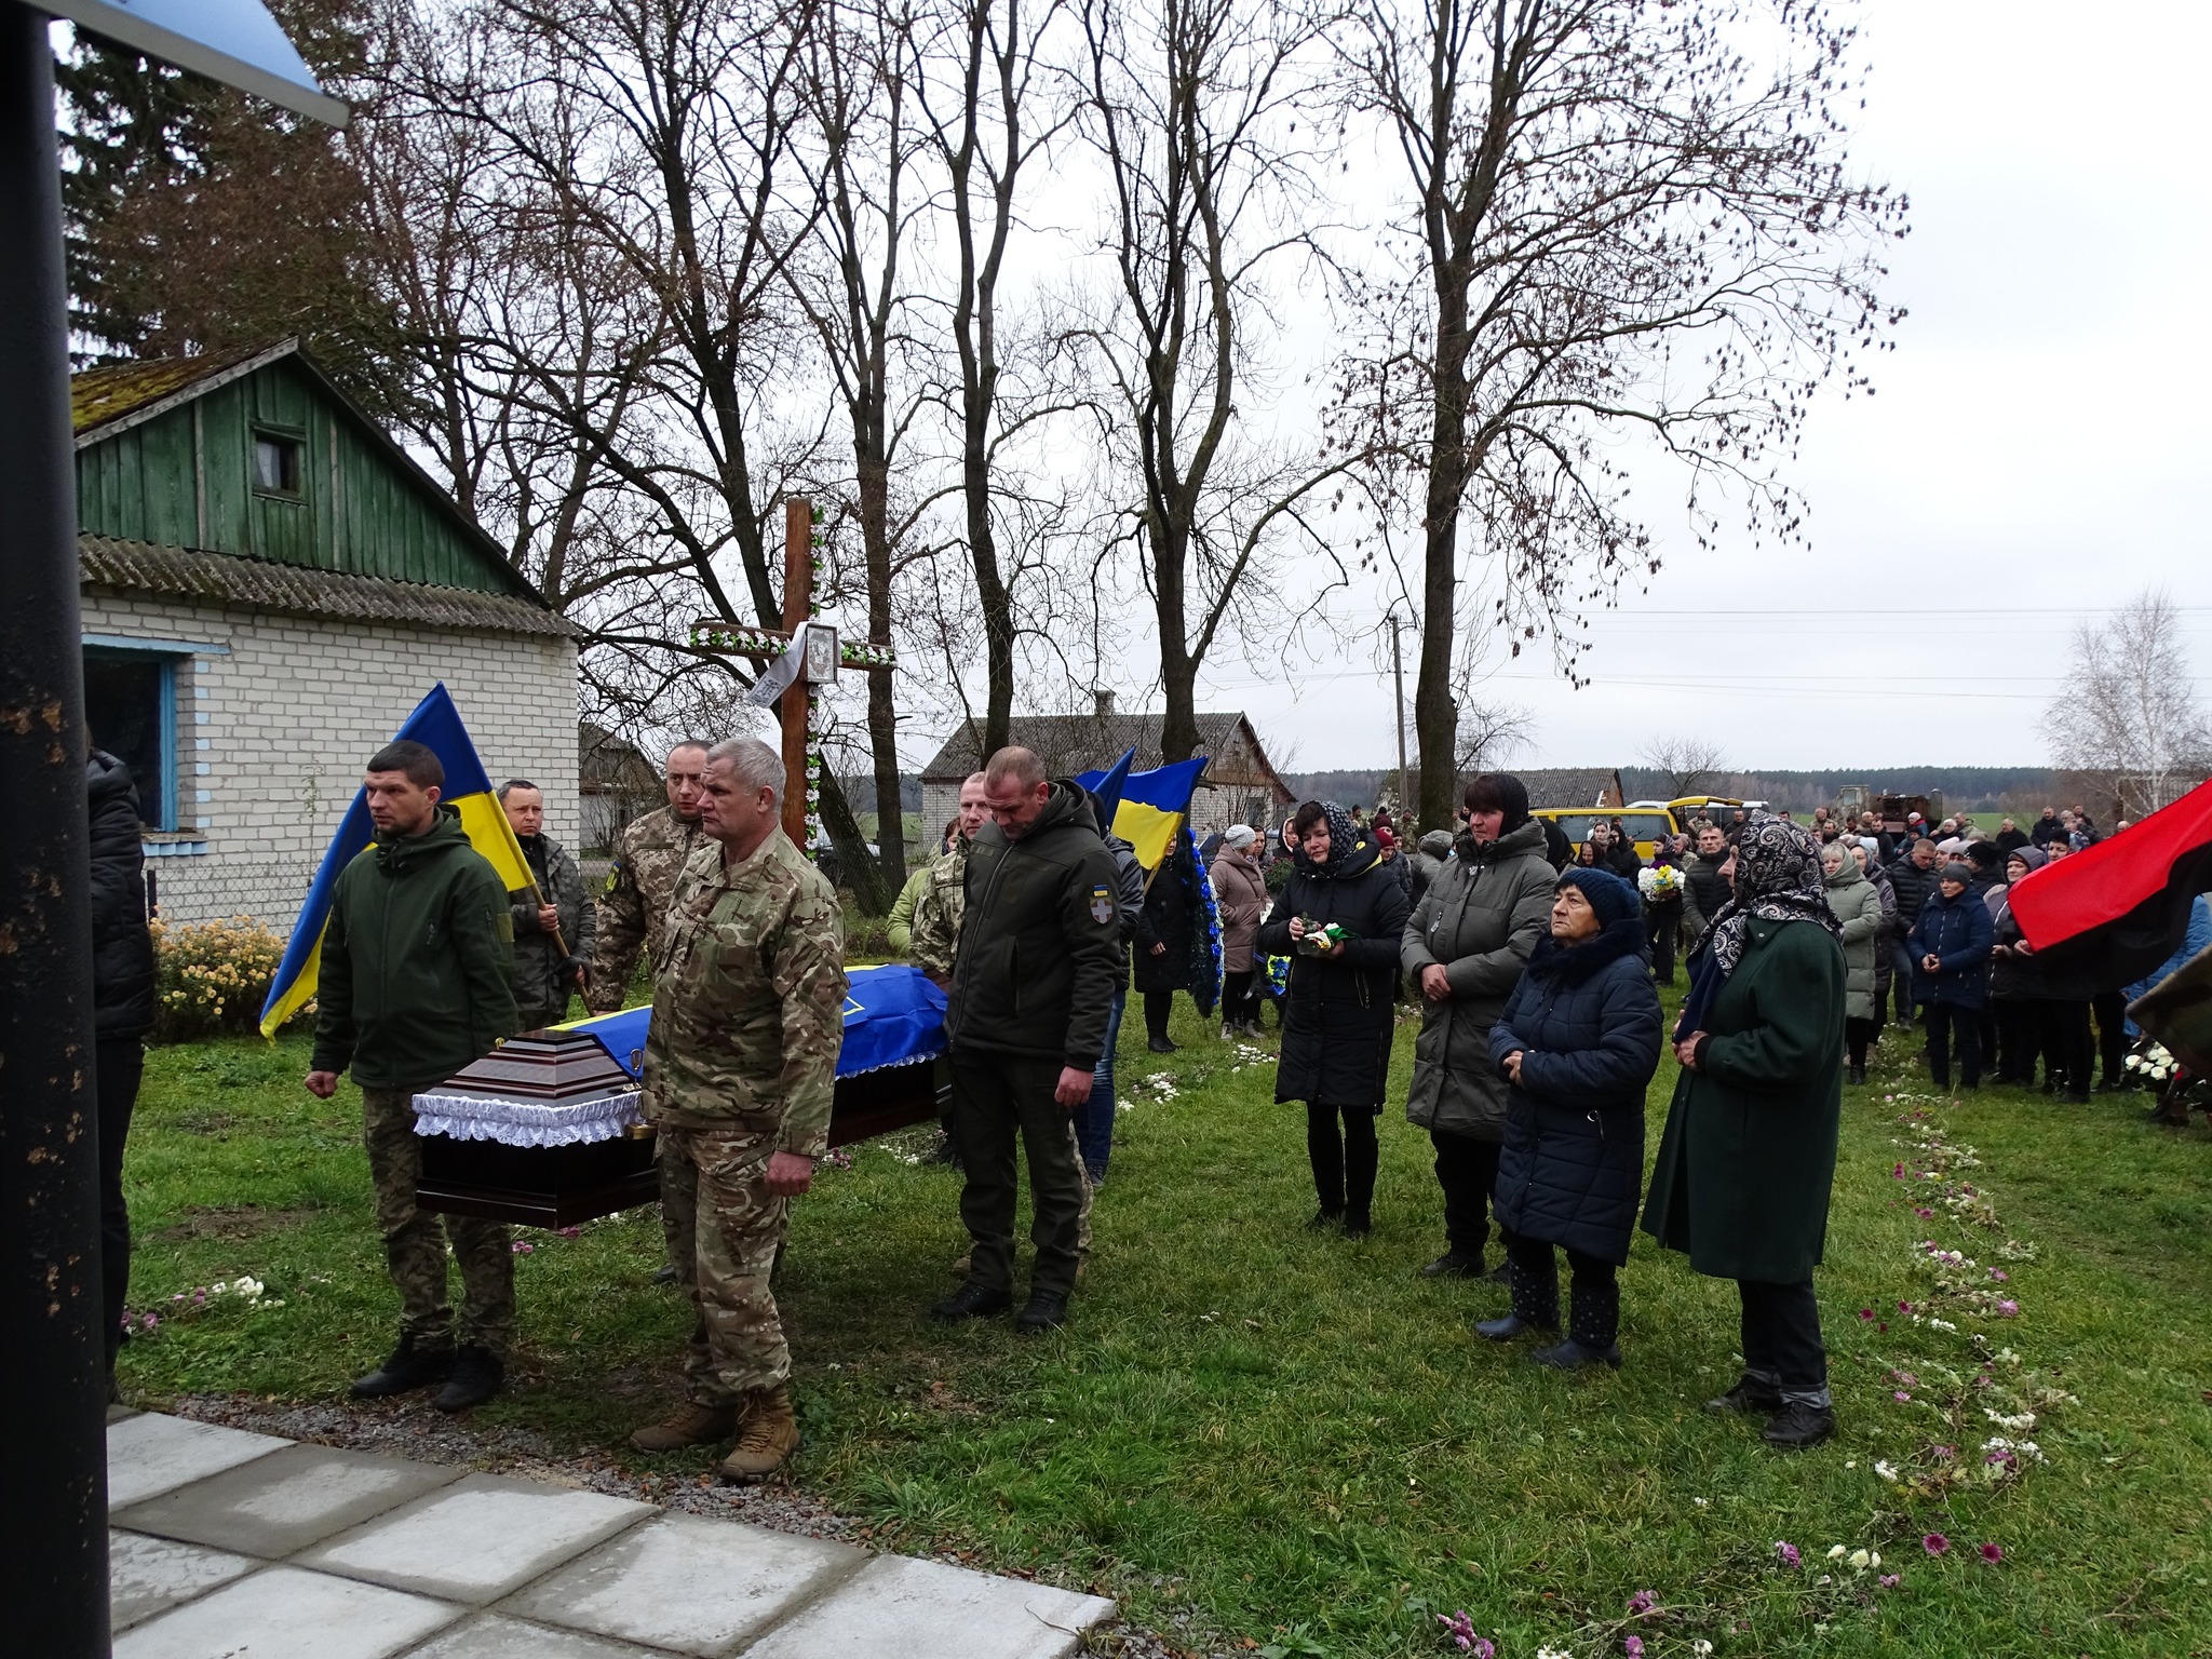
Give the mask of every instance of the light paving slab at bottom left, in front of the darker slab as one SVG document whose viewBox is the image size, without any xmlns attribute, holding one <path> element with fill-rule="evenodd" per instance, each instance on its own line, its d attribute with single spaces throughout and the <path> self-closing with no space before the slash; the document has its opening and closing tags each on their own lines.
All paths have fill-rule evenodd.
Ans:
<svg viewBox="0 0 2212 1659">
<path fill-rule="evenodd" d="M 460 1608 L 272 1566 L 115 1639 L 115 1659 L 389 1659 Z"/>
</svg>

